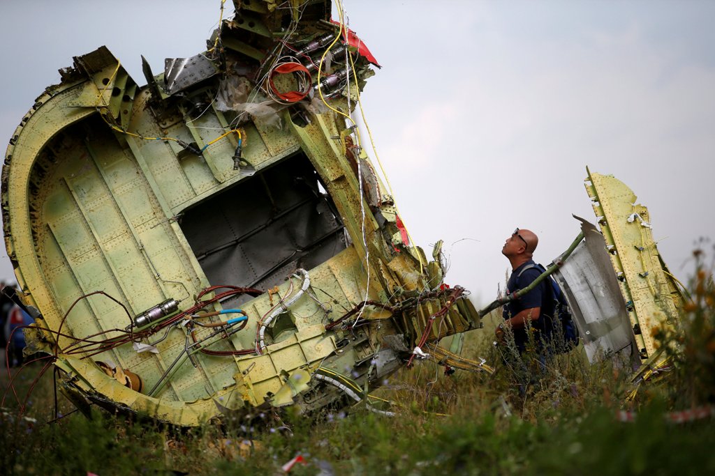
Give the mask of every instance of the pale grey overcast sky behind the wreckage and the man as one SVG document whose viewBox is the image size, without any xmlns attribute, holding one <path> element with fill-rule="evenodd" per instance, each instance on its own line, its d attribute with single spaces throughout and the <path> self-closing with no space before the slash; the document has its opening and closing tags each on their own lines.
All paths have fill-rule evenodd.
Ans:
<svg viewBox="0 0 715 476">
<path fill-rule="evenodd" d="M 107 45 L 144 84 L 140 55 L 158 72 L 166 57 L 202 51 L 219 6 L 4 1 L 0 139 L 72 56 Z M 661 255 L 687 278 L 695 243 L 715 236 L 715 2 L 348 0 L 345 9 L 383 65 L 363 96 L 378 153 L 416 242 L 430 253 L 445 240 L 448 283 L 492 299 L 517 226 L 538 234 L 541 263 L 565 250 L 578 234 L 571 214 L 593 221 L 586 166 L 633 189 Z M 0 278 L 14 280 L 2 253 Z"/>
</svg>

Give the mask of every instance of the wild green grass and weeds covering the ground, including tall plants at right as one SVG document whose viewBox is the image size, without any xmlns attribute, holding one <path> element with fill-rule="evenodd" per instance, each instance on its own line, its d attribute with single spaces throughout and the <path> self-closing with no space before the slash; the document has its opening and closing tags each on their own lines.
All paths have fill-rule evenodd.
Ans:
<svg viewBox="0 0 715 476">
<path fill-rule="evenodd" d="M 588 365 L 581 350 L 559 355 L 533 375 L 498 368 L 495 375 L 455 373 L 419 362 L 400 370 L 378 395 L 395 402 L 389 418 L 365 407 L 322 415 L 315 422 L 294 411 L 175 430 L 131 422 L 107 412 L 54 416 L 52 378 L 31 394 L 27 415 L 6 402 L 0 417 L 0 467 L 7 475 L 99 476 L 174 474 L 282 474 L 297 454 L 305 465 L 292 474 L 315 475 L 689 475 L 715 472 L 715 431 L 710 419 L 685 424 L 664 415 L 715 402 L 715 290 L 711 270 L 699 267 L 693 298 L 681 325 L 657 338 L 674 370 L 632 386 L 618 362 Z M 493 325 L 493 324 L 492 324 Z M 492 329 L 468 335 L 463 355 L 499 363 Z M 525 368 L 531 363 L 528 359 Z M 41 366 L 26 370 L 20 393 Z M 60 398 L 61 411 L 71 411 Z M 619 422 L 621 408 L 637 410 Z"/>
</svg>

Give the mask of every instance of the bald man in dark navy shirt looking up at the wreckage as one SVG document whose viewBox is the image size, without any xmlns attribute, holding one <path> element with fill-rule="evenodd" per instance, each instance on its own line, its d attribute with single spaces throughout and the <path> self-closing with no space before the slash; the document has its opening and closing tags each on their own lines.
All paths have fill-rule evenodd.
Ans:
<svg viewBox="0 0 715 476">
<path fill-rule="evenodd" d="M 506 239 L 501 253 L 511 263 L 512 270 L 506 285 L 507 294 L 526 288 L 541 275 L 541 270 L 536 268 L 536 263 L 532 259 L 537 245 L 538 237 L 536 233 L 523 228 L 516 228 L 514 233 Z M 531 321 L 538 347 L 541 346 L 541 343 L 551 338 L 553 330 L 551 316 L 554 314 L 554 305 L 551 290 L 548 288 L 549 285 L 548 280 L 543 280 L 536 288 L 521 296 L 521 298 L 504 305 L 504 322 L 495 330 L 496 337 L 500 342 L 503 340 L 504 327 L 511 325 L 516 346 L 519 352 L 523 352 L 527 343 L 526 323 L 528 321 Z"/>
</svg>

